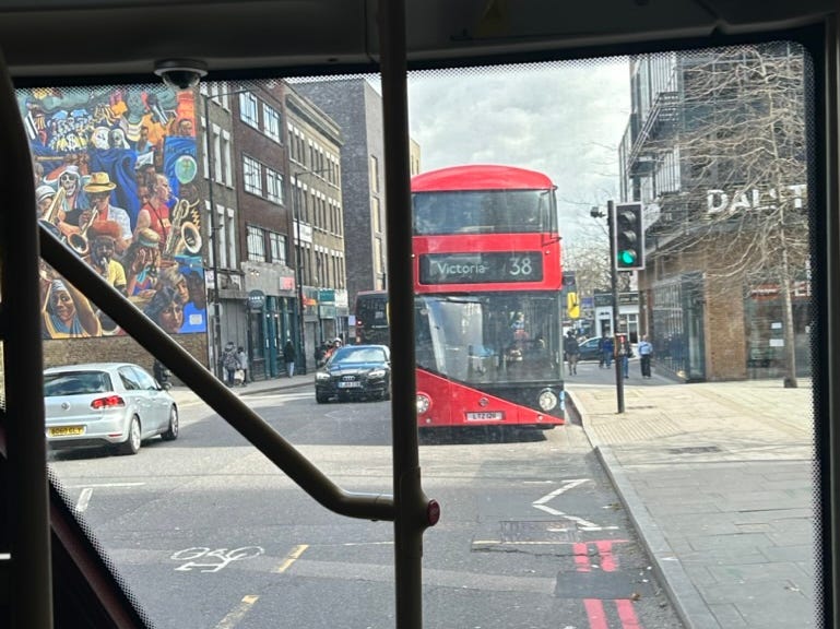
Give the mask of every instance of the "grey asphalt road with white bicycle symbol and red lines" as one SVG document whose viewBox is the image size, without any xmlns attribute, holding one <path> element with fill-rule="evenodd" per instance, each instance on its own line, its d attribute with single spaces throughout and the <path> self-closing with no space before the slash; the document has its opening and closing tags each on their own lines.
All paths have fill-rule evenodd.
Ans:
<svg viewBox="0 0 840 629">
<path fill-rule="evenodd" d="M 244 400 L 344 489 L 391 492 L 388 403 Z M 579 426 L 434 435 L 421 465 L 426 627 L 679 627 Z M 155 627 L 394 627 L 392 524 L 330 513 L 203 403 L 177 441 L 51 468 Z"/>
</svg>

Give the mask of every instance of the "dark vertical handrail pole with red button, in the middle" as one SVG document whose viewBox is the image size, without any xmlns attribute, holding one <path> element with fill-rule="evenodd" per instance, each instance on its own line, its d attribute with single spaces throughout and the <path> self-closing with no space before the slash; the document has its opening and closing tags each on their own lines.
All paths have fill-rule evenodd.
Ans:
<svg viewBox="0 0 840 629">
<path fill-rule="evenodd" d="M 414 353 L 411 168 L 409 144 L 405 0 L 379 2 L 384 130 L 388 295 L 393 378 L 392 432 L 397 627 L 423 626 L 423 532 L 436 522 L 436 503 L 421 486 Z M 429 513 L 435 511 L 435 518 Z M 430 521 L 431 520 L 431 521 Z"/>
</svg>

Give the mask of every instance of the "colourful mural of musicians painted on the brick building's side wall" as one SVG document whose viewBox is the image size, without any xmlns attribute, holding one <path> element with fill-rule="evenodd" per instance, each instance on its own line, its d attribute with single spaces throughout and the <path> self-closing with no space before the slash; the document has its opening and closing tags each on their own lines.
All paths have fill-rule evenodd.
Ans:
<svg viewBox="0 0 840 629">
<path fill-rule="evenodd" d="M 171 334 L 206 332 L 196 102 L 166 86 L 20 90 L 42 225 Z M 45 339 L 121 334 L 42 269 Z"/>
</svg>

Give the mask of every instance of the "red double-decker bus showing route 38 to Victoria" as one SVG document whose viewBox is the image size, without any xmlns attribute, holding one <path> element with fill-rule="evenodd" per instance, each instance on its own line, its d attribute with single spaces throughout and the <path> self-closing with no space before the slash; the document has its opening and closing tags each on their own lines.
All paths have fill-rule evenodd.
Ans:
<svg viewBox="0 0 840 629">
<path fill-rule="evenodd" d="M 564 423 L 555 188 L 510 166 L 412 179 L 421 428 Z"/>
</svg>

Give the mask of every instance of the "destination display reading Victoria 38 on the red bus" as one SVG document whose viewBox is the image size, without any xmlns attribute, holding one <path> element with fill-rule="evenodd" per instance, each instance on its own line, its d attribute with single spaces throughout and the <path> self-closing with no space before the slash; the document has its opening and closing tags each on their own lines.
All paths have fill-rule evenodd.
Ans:
<svg viewBox="0 0 840 629">
<path fill-rule="evenodd" d="M 419 259 L 421 284 L 541 282 L 540 251 L 428 253 Z"/>
</svg>

